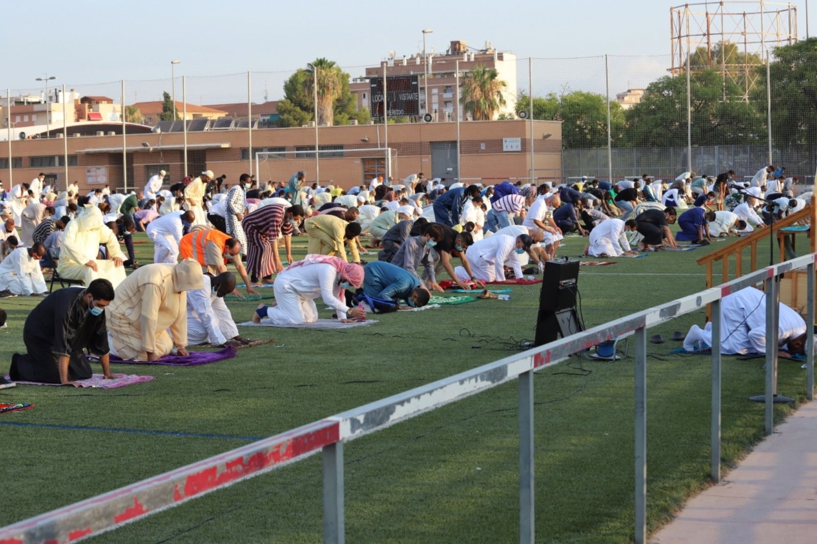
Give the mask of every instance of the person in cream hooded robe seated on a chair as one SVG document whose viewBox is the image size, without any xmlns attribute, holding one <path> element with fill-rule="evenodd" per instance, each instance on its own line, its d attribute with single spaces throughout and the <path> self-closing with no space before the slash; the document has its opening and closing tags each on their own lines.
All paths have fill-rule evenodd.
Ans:
<svg viewBox="0 0 817 544">
<path fill-rule="evenodd" d="M 97 259 L 100 244 L 107 247 L 109 260 Z M 124 259 L 116 234 L 102 222 L 102 212 L 88 204 L 65 227 L 56 271 L 61 278 L 81 279 L 85 285 L 105 278 L 116 288 L 125 279 Z"/>
</svg>

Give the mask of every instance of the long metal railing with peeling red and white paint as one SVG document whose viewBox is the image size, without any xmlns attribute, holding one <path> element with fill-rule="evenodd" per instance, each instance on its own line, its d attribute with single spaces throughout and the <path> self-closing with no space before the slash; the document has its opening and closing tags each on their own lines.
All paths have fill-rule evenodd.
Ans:
<svg viewBox="0 0 817 544">
<path fill-rule="evenodd" d="M 721 479 L 721 298 L 758 283 L 766 288 L 765 430 L 774 428 L 778 355 L 779 278 L 805 268 L 808 274 L 807 322 L 815 319 L 817 253 L 768 266 L 715 288 L 615 319 L 587 331 L 505 359 L 460 372 L 413 390 L 353 408 L 280 435 L 235 448 L 162 475 L 142 480 L 70 506 L 0 528 L 0 544 L 67 542 L 93 536 L 177 506 L 218 488 L 323 454 L 324 542 L 345 541 L 343 444 L 398 421 L 465 399 L 519 378 L 520 542 L 534 542 L 534 372 L 614 338 L 635 336 L 635 541 L 646 542 L 647 328 L 712 304 L 712 456 L 711 475 Z M 808 399 L 814 398 L 814 337 L 806 344 Z"/>
</svg>

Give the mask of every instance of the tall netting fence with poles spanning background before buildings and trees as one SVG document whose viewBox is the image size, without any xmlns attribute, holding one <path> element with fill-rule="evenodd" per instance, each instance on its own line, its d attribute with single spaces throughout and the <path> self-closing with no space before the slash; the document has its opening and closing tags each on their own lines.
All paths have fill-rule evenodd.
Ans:
<svg viewBox="0 0 817 544">
<path fill-rule="evenodd" d="M 764 43 L 741 46 L 724 32 L 712 43 L 681 40 L 667 56 L 466 53 L 435 56 L 427 69 L 420 55 L 356 66 L 316 59 L 279 72 L 197 77 L 172 65 L 172 77 L 66 83 L 65 93 L 60 79 L 44 75 L 9 91 L 11 109 L 0 92 L 0 138 L 11 141 L 0 145 L 0 172 L 141 189 L 160 170 L 170 185 L 209 169 L 232 185 L 243 172 L 261 176 L 258 152 L 273 160 L 317 150 L 310 178 L 343 186 L 371 172 L 493 183 L 732 169 L 741 179 L 767 163 L 810 185 L 815 40 L 789 41 L 768 43 L 777 46 L 768 66 Z M 474 123 L 519 119 L 534 122 L 491 130 Z M 279 130 L 286 128 L 307 130 Z M 359 156 L 384 147 L 393 153 L 378 151 L 373 163 Z"/>
</svg>

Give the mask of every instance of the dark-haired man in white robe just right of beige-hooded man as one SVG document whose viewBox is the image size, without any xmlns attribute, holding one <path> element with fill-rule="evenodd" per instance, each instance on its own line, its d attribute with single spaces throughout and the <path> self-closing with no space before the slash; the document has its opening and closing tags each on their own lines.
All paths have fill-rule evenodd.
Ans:
<svg viewBox="0 0 817 544">
<path fill-rule="evenodd" d="M 224 296 L 235 290 L 235 275 L 224 272 L 210 277 L 204 274 L 201 289 L 187 292 L 187 343 L 197 346 L 210 342 L 213 346 L 243 344 L 233 316 L 224 303 Z"/>
</svg>

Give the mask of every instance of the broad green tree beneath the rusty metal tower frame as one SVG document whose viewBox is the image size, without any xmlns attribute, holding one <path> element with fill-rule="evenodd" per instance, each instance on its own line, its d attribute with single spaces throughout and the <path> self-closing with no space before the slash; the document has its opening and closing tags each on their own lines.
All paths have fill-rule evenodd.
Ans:
<svg viewBox="0 0 817 544">
<path fill-rule="evenodd" d="M 754 105 L 735 98 L 743 94 L 740 87 L 729 79 L 724 82 L 719 71 L 691 74 L 690 90 L 695 145 L 752 144 L 766 139 L 763 117 Z M 664 76 L 650 83 L 640 104 L 627 110 L 627 144 L 685 146 L 686 121 L 686 75 Z"/>
</svg>

